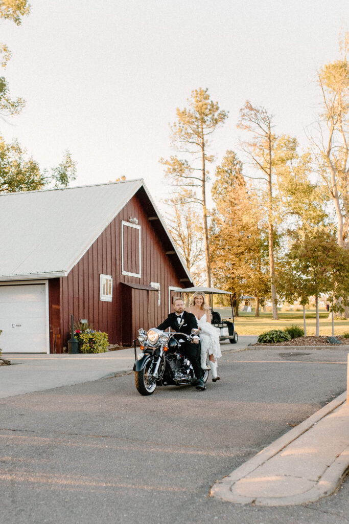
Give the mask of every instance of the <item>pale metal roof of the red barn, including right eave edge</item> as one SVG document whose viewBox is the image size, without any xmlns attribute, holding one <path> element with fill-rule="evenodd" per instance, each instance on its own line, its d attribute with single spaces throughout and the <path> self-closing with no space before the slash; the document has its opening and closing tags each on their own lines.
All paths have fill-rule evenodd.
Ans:
<svg viewBox="0 0 349 524">
<path fill-rule="evenodd" d="M 0 280 L 66 276 L 141 187 L 174 245 L 142 179 L 0 194 Z"/>
</svg>

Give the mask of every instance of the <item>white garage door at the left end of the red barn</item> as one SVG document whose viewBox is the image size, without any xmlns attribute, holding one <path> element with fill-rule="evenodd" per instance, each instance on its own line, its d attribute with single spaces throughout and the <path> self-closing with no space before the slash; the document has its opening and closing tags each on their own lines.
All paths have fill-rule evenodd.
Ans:
<svg viewBox="0 0 349 524">
<path fill-rule="evenodd" d="M 47 353 L 45 284 L 0 286 L 4 353 Z"/>
</svg>

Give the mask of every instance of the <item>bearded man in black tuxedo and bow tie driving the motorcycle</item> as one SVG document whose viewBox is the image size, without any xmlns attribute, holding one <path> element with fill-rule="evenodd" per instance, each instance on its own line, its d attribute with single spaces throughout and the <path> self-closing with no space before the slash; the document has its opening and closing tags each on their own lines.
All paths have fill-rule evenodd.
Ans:
<svg viewBox="0 0 349 524">
<path fill-rule="evenodd" d="M 170 313 L 167 316 L 167 319 L 164 320 L 157 329 L 164 331 L 166 328 L 171 328 L 174 331 L 185 333 L 190 335 L 192 329 L 197 329 L 196 318 L 193 313 L 184 311 L 184 302 L 181 298 L 176 298 L 173 304 L 174 313 Z M 182 342 L 181 343 L 181 352 L 183 355 L 190 361 L 192 364 L 195 376 L 197 378 L 196 389 L 204 391 L 206 389 L 204 380 L 202 380 L 202 370 L 200 364 L 200 346 L 199 346 L 199 337 L 195 336 L 194 341 Z"/>
</svg>

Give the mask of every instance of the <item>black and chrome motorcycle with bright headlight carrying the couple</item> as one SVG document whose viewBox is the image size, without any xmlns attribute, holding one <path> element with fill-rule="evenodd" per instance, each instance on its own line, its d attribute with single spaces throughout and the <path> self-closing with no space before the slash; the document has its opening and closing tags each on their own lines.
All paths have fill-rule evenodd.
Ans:
<svg viewBox="0 0 349 524">
<path fill-rule="evenodd" d="M 157 386 L 183 386 L 194 384 L 195 373 L 190 361 L 181 354 L 182 339 L 192 342 L 199 330 L 193 329 L 190 335 L 168 333 L 157 328 L 148 332 L 138 330 L 138 339 L 133 341 L 136 363 L 133 366 L 134 381 L 141 395 L 152 395 Z M 176 337 L 177 335 L 177 337 Z M 137 355 L 136 343 L 140 344 L 141 353 Z M 209 370 L 202 370 L 204 382 L 207 382 Z"/>
</svg>

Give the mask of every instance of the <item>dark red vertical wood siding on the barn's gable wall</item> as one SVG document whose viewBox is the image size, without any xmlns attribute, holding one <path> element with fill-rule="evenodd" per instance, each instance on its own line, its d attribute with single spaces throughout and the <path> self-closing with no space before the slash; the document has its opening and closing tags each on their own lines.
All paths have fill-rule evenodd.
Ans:
<svg viewBox="0 0 349 524">
<path fill-rule="evenodd" d="M 129 339 L 124 339 L 123 342 L 130 343 L 140 327 L 149 329 L 167 316 L 168 286 L 183 287 L 189 282 L 180 282 L 180 279 L 185 277 L 183 267 L 176 257 L 166 255 L 166 251 L 173 250 L 173 247 L 167 235 L 162 232 L 159 221 L 148 220 L 148 216 L 153 215 L 154 211 L 147 195 L 140 190 L 100 234 L 69 275 L 59 279 L 59 299 L 55 288 L 55 302 L 60 304 L 61 331 L 60 348 L 57 348 L 57 351 L 61 351 L 70 338 L 71 314 L 74 315 L 75 322 L 87 319 L 96 330 L 107 332 L 110 344 L 122 342 L 122 324 L 125 327 L 128 323 L 128 328 L 125 329 Z M 128 248 L 125 255 L 127 267 L 132 268 L 130 272 L 138 272 L 141 269 L 140 278 L 122 275 L 121 271 L 121 221 L 128 222 L 130 216 L 136 217 L 141 226 L 141 265 L 138 260 L 138 230 L 135 228 L 125 228 L 132 230 L 131 234 L 126 235 Z M 112 302 L 99 300 L 100 274 L 112 276 Z M 157 305 L 157 292 L 134 289 L 126 291 L 126 286 L 122 286 L 121 282 L 147 286 L 150 282 L 160 282 L 160 306 Z M 127 303 L 127 300 L 130 303 Z M 128 314 L 122 314 L 129 307 L 131 310 Z M 52 352 L 53 346 L 50 347 Z"/>
</svg>

